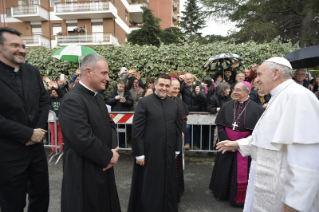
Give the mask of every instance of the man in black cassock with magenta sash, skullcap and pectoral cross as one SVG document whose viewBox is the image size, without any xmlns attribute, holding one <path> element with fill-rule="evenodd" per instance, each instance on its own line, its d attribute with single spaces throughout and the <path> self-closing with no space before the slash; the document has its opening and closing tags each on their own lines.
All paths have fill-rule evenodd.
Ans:
<svg viewBox="0 0 319 212">
<path fill-rule="evenodd" d="M 223 104 L 216 118 L 220 141 L 236 141 L 251 135 L 264 109 L 249 99 L 251 85 L 242 81 L 235 85 L 234 100 Z M 250 159 L 240 152 L 217 153 L 209 188 L 216 199 L 229 199 L 232 205 L 243 206 L 248 182 Z"/>
</svg>

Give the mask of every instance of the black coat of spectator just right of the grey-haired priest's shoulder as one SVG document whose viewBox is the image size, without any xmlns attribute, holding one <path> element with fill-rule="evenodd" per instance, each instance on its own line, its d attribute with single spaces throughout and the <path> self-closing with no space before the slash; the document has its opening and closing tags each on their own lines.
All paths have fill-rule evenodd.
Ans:
<svg viewBox="0 0 319 212">
<path fill-rule="evenodd" d="M 130 91 L 124 89 L 123 97 L 126 99 L 124 103 L 120 102 L 119 99 L 115 99 L 117 95 L 117 87 L 115 87 L 110 91 L 109 95 L 107 95 L 106 104 L 111 106 L 112 111 L 130 111 L 133 105 L 133 99 Z"/>
</svg>

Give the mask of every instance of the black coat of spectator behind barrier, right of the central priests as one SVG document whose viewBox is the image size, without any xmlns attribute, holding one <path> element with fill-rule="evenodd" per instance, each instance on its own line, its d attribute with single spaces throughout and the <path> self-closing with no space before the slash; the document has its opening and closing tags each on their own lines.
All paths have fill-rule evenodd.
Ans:
<svg viewBox="0 0 319 212">
<path fill-rule="evenodd" d="M 181 84 L 181 94 L 182 94 L 182 99 L 187 106 L 188 111 L 202 111 L 202 105 L 203 102 L 206 101 L 206 94 L 204 92 L 204 89 L 202 85 L 199 85 L 200 87 L 200 92 L 197 95 L 195 93 L 195 89 L 191 91 L 185 84 L 185 82 L 182 82 Z"/>
</svg>

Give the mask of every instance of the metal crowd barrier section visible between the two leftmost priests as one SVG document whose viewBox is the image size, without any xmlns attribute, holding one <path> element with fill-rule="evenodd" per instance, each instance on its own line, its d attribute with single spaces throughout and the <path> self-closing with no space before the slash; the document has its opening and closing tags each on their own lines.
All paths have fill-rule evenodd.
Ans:
<svg viewBox="0 0 319 212">
<path fill-rule="evenodd" d="M 52 162 L 52 160 L 57 157 L 57 160 L 55 162 L 55 165 L 58 164 L 60 161 L 63 151 L 59 152 L 59 149 L 62 148 L 62 146 L 58 145 L 58 131 L 57 131 L 57 121 L 58 117 L 56 117 L 55 112 L 52 110 L 49 110 L 49 117 L 48 117 L 48 138 L 47 138 L 47 144 L 44 145 L 44 147 L 52 148 L 55 147 L 55 153 L 51 156 L 49 163 Z M 51 144 L 51 132 L 50 132 L 50 123 L 54 123 L 54 137 L 55 137 L 55 145 Z M 63 144 L 62 144 L 63 145 Z"/>
</svg>

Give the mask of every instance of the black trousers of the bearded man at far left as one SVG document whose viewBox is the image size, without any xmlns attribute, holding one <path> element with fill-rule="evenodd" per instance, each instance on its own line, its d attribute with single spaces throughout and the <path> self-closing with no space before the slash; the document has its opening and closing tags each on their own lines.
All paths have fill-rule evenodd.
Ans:
<svg viewBox="0 0 319 212">
<path fill-rule="evenodd" d="M 28 194 L 28 212 L 49 208 L 48 162 L 44 148 L 16 161 L 0 162 L 0 208 L 2 212 L 23 212 Z"/>
</svg>

